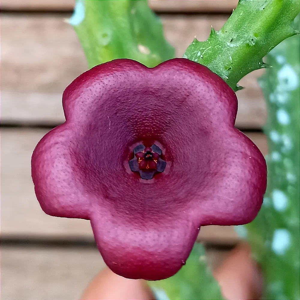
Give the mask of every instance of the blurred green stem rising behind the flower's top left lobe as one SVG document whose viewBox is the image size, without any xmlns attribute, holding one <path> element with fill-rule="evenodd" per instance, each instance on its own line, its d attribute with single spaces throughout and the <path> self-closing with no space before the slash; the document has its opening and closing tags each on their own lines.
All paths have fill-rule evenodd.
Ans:
<svg viewBox="0 0 300 300">
<path fill-rule="evenodd" d="M 116 58 L 154 67 L 175 55 L 146 0 L 77 0 L 69 22 L 90 68 Z"/>
</svg>

